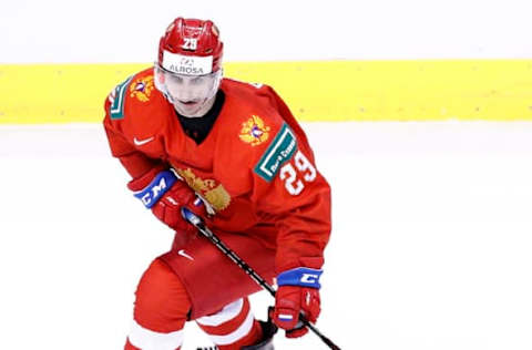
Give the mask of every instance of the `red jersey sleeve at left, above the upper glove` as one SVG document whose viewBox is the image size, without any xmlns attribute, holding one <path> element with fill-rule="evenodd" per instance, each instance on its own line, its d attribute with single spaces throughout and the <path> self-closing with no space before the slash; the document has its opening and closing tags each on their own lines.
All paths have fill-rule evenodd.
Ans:
<svg viewBox="0 0 532 350">
<path fill-rule="evenodd" d="M 161 162 L 150 158 L 127 141 L 124 135 L 124 128 L 126 127 L 124 124 L 126 121 L 123 114 L 120 117 L 113 117 L 112 109 L 115 99 L 120 97 L 116 96 L 116 90 L 119 89 L 120 85 L 105 99 L 103 126 L 108 136 L 111 154 L 119 158 L 120 163 L 133 178 L 137 178 L 153 167 L 161 166 Z"/>
</svg>

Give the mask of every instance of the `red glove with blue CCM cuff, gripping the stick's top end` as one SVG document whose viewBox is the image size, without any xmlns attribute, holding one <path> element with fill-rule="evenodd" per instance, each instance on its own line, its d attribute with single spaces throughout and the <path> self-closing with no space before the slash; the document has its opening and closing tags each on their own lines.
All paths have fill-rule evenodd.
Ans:
<svg viewBox="0 0 532 350">
<path fill-rule="evenodd" d="M 194 226 L 182 217 L 181 207 L 186 206 L 200 217 L 206 216 L 202 199 L 171 171 L 153 168 L 140 178 L 132 179 L 127 187 L 161 222 L 176 231 L 195 233 Z"/>
</svg>

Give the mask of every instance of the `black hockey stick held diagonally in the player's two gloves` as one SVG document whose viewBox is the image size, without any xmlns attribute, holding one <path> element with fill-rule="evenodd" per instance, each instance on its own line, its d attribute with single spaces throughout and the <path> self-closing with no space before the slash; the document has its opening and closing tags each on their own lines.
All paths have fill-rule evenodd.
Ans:
<svg viewBox="0 0 532 350">
<path fill-rule="evenodd" d="M 239 268 L 242 268 L 249 277 L 260 287 L 266 289 L 272 297 L 275 298 L 275 289 L 272 287 L 264 278 L 262 278 L 249 265 L 247 265 L 239 256 L 236 255 L 229 247 L 227 247 L 219 238 L 216 236 L 205 223 L 194 213 L 192 213 L 188 208 L 183 207 L 181 209 L 181 214 L 183 218 L 194 225 L 200 233 L 205 236 L 211 243 L 213 243 L 226 257 L 233 260 Z M 329 338 L 325 337 L 310 321 L 308 321 L 303 313 L 299 313 L 299 320 L 303 325 L 305 325 L 308 329 L 310 329 L 316 336 L 321 339 L 330 349 L 340 350 L 340 348 L 335 344 Z"/>
</svg>

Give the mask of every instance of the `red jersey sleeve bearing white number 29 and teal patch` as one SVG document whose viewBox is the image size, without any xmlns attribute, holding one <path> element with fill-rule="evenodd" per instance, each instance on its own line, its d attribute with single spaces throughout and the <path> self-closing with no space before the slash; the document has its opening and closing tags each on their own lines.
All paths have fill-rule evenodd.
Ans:
<svg viewBox="0 0 532 350">
<path fill-rule="evenodd" d="M 284 123 L 253 169 L 257 209 L 277 228 L 277 272 L 320 268 L 331 227 L 330 186 L 286 104 L 277 94 L 272 99 Z"/>
</svg>

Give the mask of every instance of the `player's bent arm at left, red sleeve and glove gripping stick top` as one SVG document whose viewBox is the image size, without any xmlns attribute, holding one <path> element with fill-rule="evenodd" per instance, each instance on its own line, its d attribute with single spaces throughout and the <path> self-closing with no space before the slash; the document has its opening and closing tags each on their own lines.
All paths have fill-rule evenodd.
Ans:
<svg viewBox="0 0 532 350">
<path fill-rule="evenodd" d="M 124 120 L 112 120 L 110 107 L 113 94 L 105 101 L 104 128 L 111 153 L 119 158 L 132 179 L 127 183 L 134 196 L 171 228 L 191 234 L 193 227 L 181 216 L 183 205 L 205 217 L 203 203 L 186 183 L 180 181 L 162 159 L 154 159 L 136 150 L 123 133 Z"/>
</svg>

